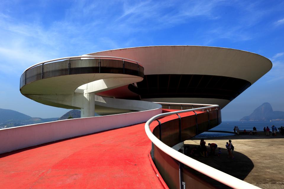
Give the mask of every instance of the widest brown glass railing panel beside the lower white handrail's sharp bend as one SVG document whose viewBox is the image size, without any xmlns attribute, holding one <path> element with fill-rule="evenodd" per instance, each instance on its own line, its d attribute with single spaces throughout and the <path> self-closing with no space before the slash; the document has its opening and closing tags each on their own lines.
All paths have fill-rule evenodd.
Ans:
<svg viewBox="0 0 284 189">
<path fill-rule="evenodd" d="M 162 142 L 172 147 L 180 143 L 179 139 L 179 119 L 174 119 L 162 123 L 161 133 L 162 133 Z"/>
</svg>

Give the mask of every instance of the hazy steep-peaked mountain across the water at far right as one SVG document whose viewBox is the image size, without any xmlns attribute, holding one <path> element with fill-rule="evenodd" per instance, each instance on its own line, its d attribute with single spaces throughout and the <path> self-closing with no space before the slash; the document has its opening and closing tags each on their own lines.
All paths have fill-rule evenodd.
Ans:
<svg viewBox="0 0 284 189">
<path fill-rule="evenodd" d="M 284 112 L 273 111 L 270 103 L 265 102 L 257 107 L 249 116 L 245 116 L 240 121 L 258 121 L 258 120 L 275 120 L 284 119 Z"/>
</svg>

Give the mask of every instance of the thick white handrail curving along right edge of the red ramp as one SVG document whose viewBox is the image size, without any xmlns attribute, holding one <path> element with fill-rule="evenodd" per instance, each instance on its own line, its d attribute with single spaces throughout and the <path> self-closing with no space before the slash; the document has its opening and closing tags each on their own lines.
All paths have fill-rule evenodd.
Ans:
<svg viewBox="0 0 284 189">
<path fill-rule="evenodd" d="M 161 117 L 167 116 L 167 115 L 173 115 L 177 113 L 185 113 L 185 112 L 191 112 L 191 111 L 198 111 L 198 110 L 203 110 L 203 109 L 209 109 L 209 108 L 214 108 L 214 107 L 219 107 L 219 105 L 211 105 L 208 107 L 200 107 L 200 108 L 194 108 L 194 109 L 189 109 L 189 110 L 181 110 L 181 111 L 175 111 L 175 112 L 168 112 L 168 113 L 162 113 L 159 115 L 155 115 L 151 119 L 149 119 L 145 123 L 145 131 L 148 136 L 148 138 L 157 146 L 157 148 L 161 149 L 164 153 L 168 154 L 172 158 L 178 160 L 179 162 L 182 162 L 183 164 L 187 165 L 188 167 L 193 168 L 194 170 L 201 172 L 204 175 L 207 175 L 214 180 L 219 181 L 220 183 L 223 183 L 227 186 L 230 186 L 231 188 L 235 189 L 259 189 L 259 187 L 249 184 L 243 180 L 240 180 L 236 177 L 233 177 L 231 175 L 228 175 L 227 173 L 224 173 L 222 171 L 219 171 L 213 167 L 210 167 L 206 164 L 203 164 L 195 159 L 192 159 L 191 157 L 188 157 L 175 149 L 171 148 L 170 146 L 167 146 L 164 144 L 162 141 L 160 141 L 150 130 L 150 124 Z"/>
</svg>

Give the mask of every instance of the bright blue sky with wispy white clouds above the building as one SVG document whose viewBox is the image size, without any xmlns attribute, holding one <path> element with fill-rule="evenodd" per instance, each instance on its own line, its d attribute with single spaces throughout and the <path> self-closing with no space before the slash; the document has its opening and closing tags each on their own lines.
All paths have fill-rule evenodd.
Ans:
<svg viewBox="0 0 284 189">
<path fill-rule="evenodd" d="M 41 61 L 116 48 L 205 45 L 250 51 L 273 63 L 223 108 L 223 120 L 239 120 L 263 102 L 284 111 L 284 1 L 2 0 L 0 25 L 0 108 L 41 118 L 68 111 L 20 94 L 20 75 Z"/>
</svg>

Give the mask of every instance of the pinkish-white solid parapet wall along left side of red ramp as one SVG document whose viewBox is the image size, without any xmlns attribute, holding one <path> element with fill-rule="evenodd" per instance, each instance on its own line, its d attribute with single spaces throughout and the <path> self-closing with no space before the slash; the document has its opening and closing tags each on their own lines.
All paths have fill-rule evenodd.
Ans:
<svg viewBox="0 0 284 189">
<path fill-rule="evenodd" d="M 0 154 L 75 136 L 142 123 L 162 113 L 162 106 L 141 112 L 59 120 L 0 129 Z"/>
</svg>

